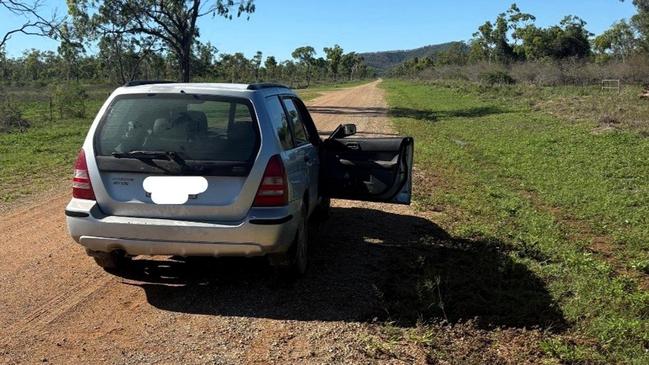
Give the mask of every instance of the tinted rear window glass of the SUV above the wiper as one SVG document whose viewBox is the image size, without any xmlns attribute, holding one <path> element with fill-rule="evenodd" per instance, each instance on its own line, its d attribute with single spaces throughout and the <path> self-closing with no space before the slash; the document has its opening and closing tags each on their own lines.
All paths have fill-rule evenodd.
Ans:
<svg viewBox="0 0 649 365">
<path fill-rule="evenodd" d="M 175 152 L 185 160 L 250 161 L 259 145 L 250 101 L 189 94 L 122 95 L 96 133 L 96 153 Z"/>
</svg>

